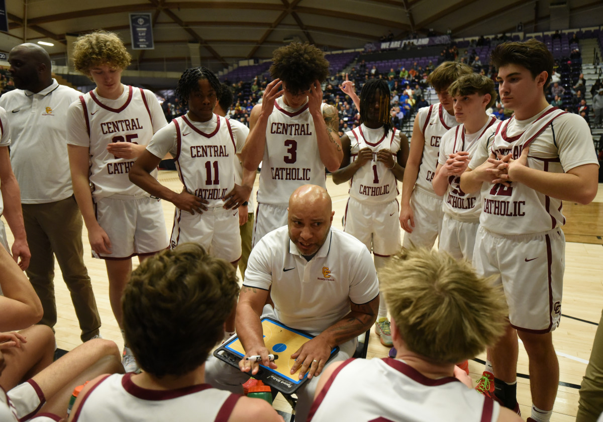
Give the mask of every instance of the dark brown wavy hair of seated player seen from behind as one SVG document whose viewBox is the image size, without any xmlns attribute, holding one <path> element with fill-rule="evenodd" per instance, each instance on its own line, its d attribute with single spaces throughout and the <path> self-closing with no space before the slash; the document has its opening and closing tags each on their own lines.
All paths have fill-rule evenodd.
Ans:
<svg viewBox="0 0 603 422">
<path fill-rule="evenodd" d="M 153 376 L 182 376 L 202 365 L 224 336 L 238 297 L 235 268 L 198 244 L 145 259 L 122 296 L 124 332 Z"/>
</svg>

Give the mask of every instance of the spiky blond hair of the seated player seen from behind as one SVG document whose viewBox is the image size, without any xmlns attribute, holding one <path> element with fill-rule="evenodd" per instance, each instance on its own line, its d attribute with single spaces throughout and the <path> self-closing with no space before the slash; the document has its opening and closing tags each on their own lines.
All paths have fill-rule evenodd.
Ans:
<svg viewBox="0 0 603 422">
<path fill-rule="evenodd" d="M 507 326 L 504 292 L 464 260 L 406 250 L 379 271 L 380 290 L 409 350 L 456 363 L 493 345 Z"/>
</svg>

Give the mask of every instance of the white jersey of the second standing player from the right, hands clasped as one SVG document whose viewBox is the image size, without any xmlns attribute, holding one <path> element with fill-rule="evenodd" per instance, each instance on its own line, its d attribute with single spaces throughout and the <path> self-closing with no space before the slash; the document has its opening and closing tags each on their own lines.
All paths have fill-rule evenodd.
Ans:
<svg viewBox="0 0 603 422">
<path fill-rule="evenodd" d="M 486 124 L 471 135 L 465 133 L 465 125 L 458 125 L 447 131 L 440 141 L 438 164 L 444 165 L 450 154 L 459 151 L 466 151 L 472 157 L 475 150 L 487 142 L 488 136 L 496 129 L 494 124 L 498 122 L 494 116 L 490 116 Z M 442 210 L 461 221 L 478 221 L 482 211 L 481 194 L 479 191 L 466 194 L 461 189 L 461 176 L 449 176 L 448 190 L 444 194 Z"/>
</svg>

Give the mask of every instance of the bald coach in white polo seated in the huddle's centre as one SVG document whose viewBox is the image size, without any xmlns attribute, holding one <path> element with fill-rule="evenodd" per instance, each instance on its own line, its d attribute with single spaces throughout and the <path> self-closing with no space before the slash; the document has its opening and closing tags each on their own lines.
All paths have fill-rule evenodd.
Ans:
<svg viewBox="0 0 603 422">
<path fill-rule="evenodd" d="M 291 374 L 300 370 L 301 379 L 308 373 L 308 382 L 295 392 L 295 420 L 304 422 L 332 348 L 339 345 L 333 361 L 352 356 L 356 337 L 376 321 L 379 285 L 365 245 L 331 226 L 335 212 L 323 187 L 295 189 L 288 211 L 288 227 L 271 231 L 251 250 L 236 331 L 245 356 L 259 355 L 262 365 L 273 368 L 281 364 L 268 361 L 262 316 L 316 335 L 290 355 L 295 359 Z M 264 308 L 269 291 L 274 309 Z M 241 359 L 239 368 L 212 357 L 206 377 L 216 388 L 241 391 L 241 383 L 257 373 L 259 363 Z"/>
</svg>

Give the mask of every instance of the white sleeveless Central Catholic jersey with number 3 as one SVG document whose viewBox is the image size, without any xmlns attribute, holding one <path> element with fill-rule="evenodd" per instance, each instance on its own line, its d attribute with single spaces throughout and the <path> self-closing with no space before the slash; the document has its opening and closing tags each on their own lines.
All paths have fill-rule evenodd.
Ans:
<svg viewBox="0 0 603 422">
<path fill-rule="evenodd" d="M 268 118 L 257 202 L 286 206 L 293 191 L 304 184 L 326 189 L 314 120 L 308 103 L 294 110 L 285 105 L 281 96 L 274 101 Z"/>
</svg>

